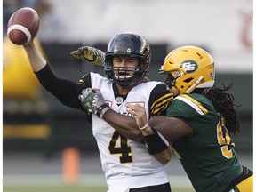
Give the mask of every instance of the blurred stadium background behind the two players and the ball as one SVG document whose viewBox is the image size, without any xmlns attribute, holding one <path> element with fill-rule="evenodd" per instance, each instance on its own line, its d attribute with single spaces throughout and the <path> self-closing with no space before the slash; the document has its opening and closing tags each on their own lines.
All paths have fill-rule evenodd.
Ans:
<svg viewBox="0 0 256 192">
<path fill-rule="evenodd" d="M 241 162 L 252 169 L 252 0 L 4 0 L 3 186 L 16 191 L 106 191 L 100 156 L 84 114 L 62 106 L 37 83 L 25 52 L 6 38 L 7 21 L 20 7 L 35 8 L 36 44 L 58 76 L 77 81 L 103 69 L 71 58 L 82 45 L 106 51 L 117 33 L 137 32 L 152 46 L 148 77 L 173 48 L 192 44 L 212 54 L 216 84 L 233 83 L 241 119 L 233 136 Z M 74 158 L 65 156 L 73 154 Z M 69 167 L 67 164 L 75 165 Z M 193 191 L 178 160 L 166 166 L 172 191 Z"/>
</svg>

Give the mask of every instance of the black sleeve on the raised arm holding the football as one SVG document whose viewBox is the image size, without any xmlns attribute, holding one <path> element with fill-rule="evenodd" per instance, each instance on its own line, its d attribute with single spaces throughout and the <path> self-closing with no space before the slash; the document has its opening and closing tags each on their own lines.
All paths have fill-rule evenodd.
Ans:
<svg viewBox="0 0 256 192">
<path fill-rule="evenodd" d="M 60 79 L 53 74 L 49 64 L 35 74 L 44 89 L 51 92 L 62 104 L 70 108 L 83 109 L 78 95 L 87 88 L 85 84 L 76 84 L 66 79 Z"/>
</svg>

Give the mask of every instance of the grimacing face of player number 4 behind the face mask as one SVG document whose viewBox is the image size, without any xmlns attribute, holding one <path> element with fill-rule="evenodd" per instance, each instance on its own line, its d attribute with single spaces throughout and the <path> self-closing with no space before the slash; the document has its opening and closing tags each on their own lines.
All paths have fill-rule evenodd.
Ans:
<svg viewBox="0 0 256 192">
<path fill-rule="evenodd" d="M 139 58 L 127 57 L 127 56 L 116 56 L 113 58 L 113 67 L 115 76 L 129 77 L 133 76 L 139 65 Z"/>
</svg>

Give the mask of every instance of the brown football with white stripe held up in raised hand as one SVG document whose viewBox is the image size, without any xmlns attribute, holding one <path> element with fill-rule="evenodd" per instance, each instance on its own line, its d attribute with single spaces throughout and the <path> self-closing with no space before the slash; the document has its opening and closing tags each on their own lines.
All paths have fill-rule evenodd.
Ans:
<svg viewBox="0 0 256 192">
<path fill-rule="evenodd" d="M 39 16 L 29 7 L 14 12 L 8 21 L 7 35 L 13 44 L 24 45 L 32 41 L 39 29 Z"/>
</svg>

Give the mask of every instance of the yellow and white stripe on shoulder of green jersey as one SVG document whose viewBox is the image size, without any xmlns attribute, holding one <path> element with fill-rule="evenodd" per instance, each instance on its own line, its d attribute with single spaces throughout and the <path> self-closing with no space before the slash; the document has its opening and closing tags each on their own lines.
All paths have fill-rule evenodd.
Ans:
<svg viewBox="0 0 256 192">
<path fill-rule="evenodd" d="M 196 112 L 199 113 L 200 115 L 205 115 L 208 113 L 208 110 L 204 108 L 200 102 L 198 102 L 197 100 L 194 100 L 193 98 L 189 97 L 186 94 L 178 96 L 175 99 L 186 102 L 189 106 L 194 108 Z"/>
</svg>

